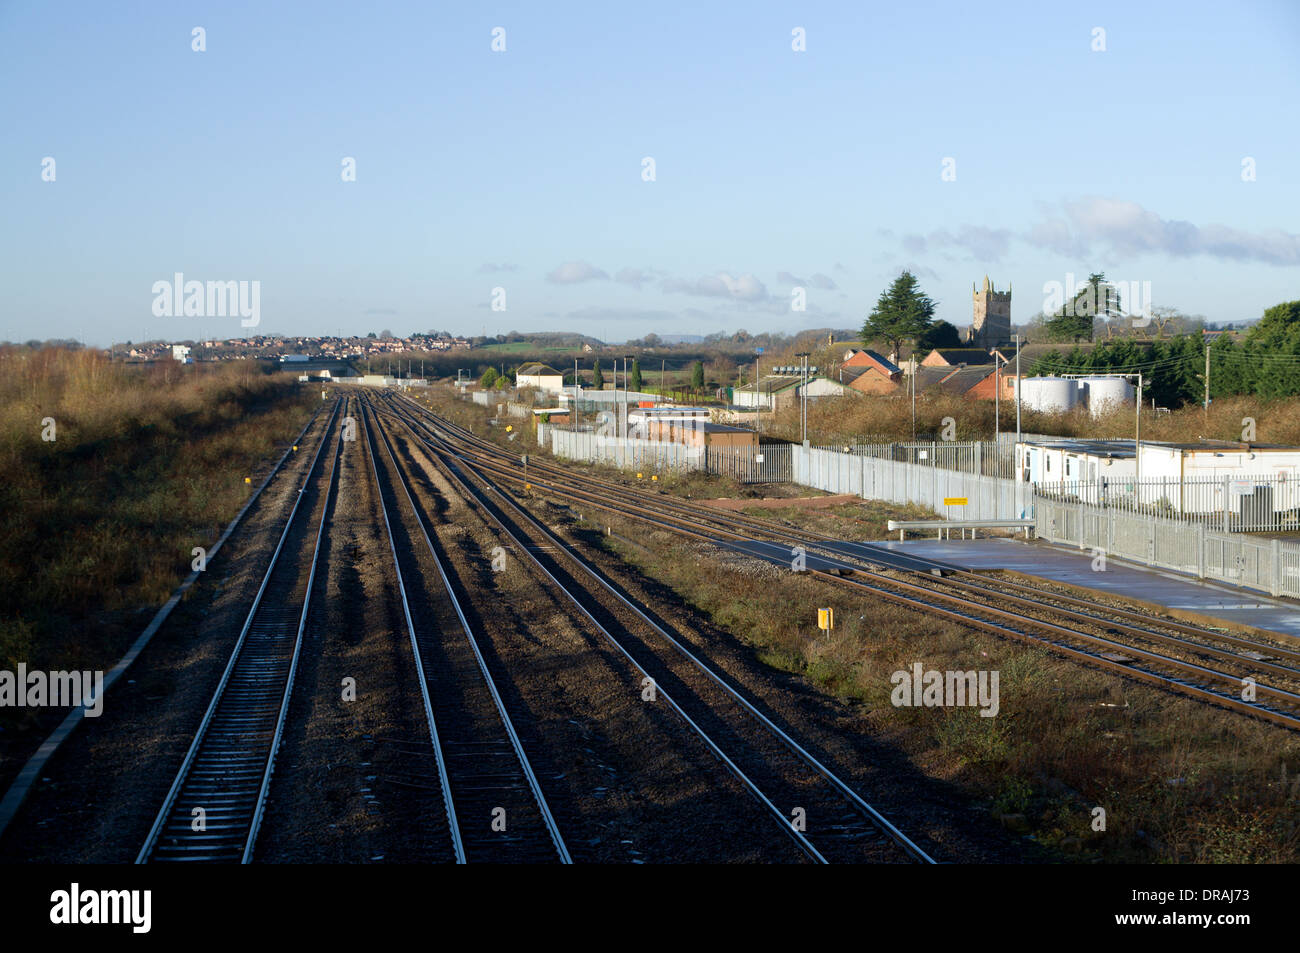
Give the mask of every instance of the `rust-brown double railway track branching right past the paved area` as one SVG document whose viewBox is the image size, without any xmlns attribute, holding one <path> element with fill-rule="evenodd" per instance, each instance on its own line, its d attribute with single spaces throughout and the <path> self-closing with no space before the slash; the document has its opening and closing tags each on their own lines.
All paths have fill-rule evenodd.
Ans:
<svg viewBox="0 0 1300 953">
<path fill-rule="evenodd" d="M 389 398 L 389 403 L 391 407 L 400 404 L 408 415 L 417 411 L 430 416 L 437 430 L 428 432 L 441 434 L 447 441 L 448 452 L 472 460 L 495 478 L 517 485 L 525 482 L 519 463 L 500 447 L 433 416 L 410 399 Z M 1300 692 L 1280 686 L 1300 688 L 1300 653 L 1283 646 L 1204 627 L 1153 620 L 1118 607 L 1098 611 L 1095 603 L 1083 599 L 1058 593 L 1045 595 L 1019 584 L 991 584 L 975 573 L 953 567 L 940 568 L 916 558 L 905 558 L 901 567 L 898 560 L 893 564 L 887 562 L 884 554 L 872 559 L 859 549 L 824 534 L 792 532 L 767 520 L 710 511 L 685 501 L 668 499 L 664 494 L 647 501 L 645 494 L 618 484 L 589 477 L 578 480 L 555 464 L 534 462 L 529 471 L 530 485 L 571 502 L 638 519 L 781 566 L 789 566 L 792 550 L 802 547 L 807 554 L 809 572 L 836 585 L 923 608 L 1000 636 L 1046 645 L 1093 667 L 1274 724 L 1300 728 Z M 816 554 L 822 554 L 820 558 Z M 906 567 L 909 562 L 913 568 Z M 933 575 L 936 572 L 942 575 Z M 900 573 L 905 579 L 900 579 Z M 1269 684 L 1261 676 L 1271 676 L 1278 684 Z"/>
</svg>

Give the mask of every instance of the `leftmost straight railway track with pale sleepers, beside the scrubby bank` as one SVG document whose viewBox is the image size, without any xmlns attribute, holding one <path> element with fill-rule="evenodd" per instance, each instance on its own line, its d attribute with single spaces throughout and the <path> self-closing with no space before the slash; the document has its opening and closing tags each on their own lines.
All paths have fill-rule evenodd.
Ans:
<svg viewBox="0 0 1300 953">
<path fill-rule="evenodd" d="M 270 564 L 136 863 L 247 863 L 252 857 L 307 627 L 316 558 L 334 498 L 344 425 L 335 400 Z M 337 430 L 337 436 L 332 437 Z M 303 506 L 326 446 L 316 501 Z M 307 514 L 320 504 L 315 534 Z M 290 538 L 302 536 L 298 545 Z M 304 573 L 294 556 L 309 554 Z"/>
</svg>

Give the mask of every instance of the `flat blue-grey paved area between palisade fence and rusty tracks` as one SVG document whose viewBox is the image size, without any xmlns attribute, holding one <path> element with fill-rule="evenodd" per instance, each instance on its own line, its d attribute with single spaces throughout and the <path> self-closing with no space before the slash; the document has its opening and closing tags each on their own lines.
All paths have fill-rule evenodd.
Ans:
<svg viewBox="0 0 1300 953">
<path fill-rule="evenodd" d="M 898 542 L 837 543 L 849 554 L 870 556 L 872 550 L 946 563 L 974 572 L 1006 569 L 1053 582 L 1110 593 L 1147 605 L 1162 606 L 1175 618 L 1214 624 L 1244 625 L 1300 640 L 1300 603 L 1275 599 L 1248 589 L 1208 582 L 1167 569 L 1152 569 L 1108 558 L 1105 572 L 1092 571 L 1087 551 L 1043 541 L 1008 538 L 907 540 Z"/>
</svg>

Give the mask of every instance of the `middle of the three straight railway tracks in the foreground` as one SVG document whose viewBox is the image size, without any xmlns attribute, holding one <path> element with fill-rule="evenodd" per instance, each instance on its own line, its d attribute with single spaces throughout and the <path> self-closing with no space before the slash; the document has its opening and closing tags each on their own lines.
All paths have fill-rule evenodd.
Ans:
<svg viewBox="0 0 1300 953">
<path fill-rule="evenodd" d="M 455 859 L 458 863 L 571 863 L 537 774 L 429 536 L 411 480 L 369 408 L 363 410 L 363 417 Z M 385 450 L 386 480 L 380 476 L 377 443 Z M 406 501 L 406 515 L 415 533 L 408 534 L 403 525 L 394 525 L 385 495 L 393 501 L 394 511 L 400 499 Z M 433 612 L 421 610 L 420 586 L 408 595 L 406 579 L 429 579 L 412 551 L 421 542 L 464 634 L 462 644 L 450 644 L 451 629 L 439 628 Z M 416 603 L 413 612 L 412 602 Z"/>
</svg>

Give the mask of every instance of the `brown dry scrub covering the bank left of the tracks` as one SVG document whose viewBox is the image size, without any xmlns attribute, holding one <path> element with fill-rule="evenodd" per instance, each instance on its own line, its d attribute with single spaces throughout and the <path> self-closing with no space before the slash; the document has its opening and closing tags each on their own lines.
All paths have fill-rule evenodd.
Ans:
<svg viewBox="0 0 1300 953">
<path fill-rule="evenodd" d="M 0 350 L 0 667 L 116 660 L 126 614 L 165 601 L 309 397 L 251 363 Z"/>
</svg>

